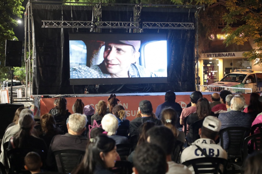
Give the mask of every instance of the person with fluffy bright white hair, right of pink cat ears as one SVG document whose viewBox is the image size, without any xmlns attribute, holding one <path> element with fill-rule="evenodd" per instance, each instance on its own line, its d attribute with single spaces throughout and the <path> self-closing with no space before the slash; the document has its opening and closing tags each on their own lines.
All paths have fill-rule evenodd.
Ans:
<svg viewBox="0 0 262 174">
<path fill-rule="evenodd" d="M 128 143 L 128 139 L 125 136 L 118 136 L 116 130 L 118 128 L 118 119 L 113 114 L 106 114 L 102 121 L 102 128 L 107 132 L 107 135 L 115 140 L 115 144 L 125 144 Z"/>
</svg>

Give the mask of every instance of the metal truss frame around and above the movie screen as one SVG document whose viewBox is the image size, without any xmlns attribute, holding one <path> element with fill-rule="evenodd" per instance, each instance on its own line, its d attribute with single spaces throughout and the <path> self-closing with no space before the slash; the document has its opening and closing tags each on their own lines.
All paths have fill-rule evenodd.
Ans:
<svg viewBox="0 0 262 174">
<path fill-rule="evenodd" d="M 53 2 L 53 1 L 37 1 L 37 0 L 29 0 L 26 5 L 26 12 L 25 12 L 25 50 L 31 52 L 34 49 L 34 28 L 33 28 L 33 13 L 32 13 L 32 4 L 34 3 L 43 3 L 43 4 L 58 4 L 60 3 L 65 4 L 65 2 Z M 42 28 L 90 28 L 90 31 L 99 32 L 102 28 L 119 28 L 123 29 L 126 28 L 126 31 L 131 32 L 143 32 L 143 29 L 195 29 L 196 31 L 196 54 L 195 54 L 195 64 L 197 65 L 196 77 L 198 77 L 198 14 L 203 9 L 205 10 L 204 5 L 154 5 L 154 4 L 119 4 L 119 3 L 85 3 L 85 2 L 66 2 L 66 4 L 85 4 L 85 5 L 92 5 L 93 6 L 93 13 L 92 13 L 92 21 L 64 21 L 63 18 L 61 21 L 56 20 L 42 20 L 43 25 Z M 133 22 L 121 22 L 121 21 L 99 21 L 99 17 L 102 15 L 101 6 L 102 5 L 122 5 L 122 6 L 133 6 L 134 11 L 134 21 Z M 196 18 L 196 26 L 194 23 L 190 22 L 142 22 L 140 15 L 141 10 L 143 7 L 146 6 L 155 6 L 155 7 L 178 7 L 178 8 L 195 8 L 195 18 Z M 111 30 L 110 30 L 111 32 Z M 28 48 L 28 49 L 27 49 Z M 27 57 L 25 51 L 25 63 L 26 63 L 26 98 L 29 95 L 32 95 L 33 89 L 33 72 L 30 71 L 31 67 L 33 67 L 33 58 L 34 52 L 31 57 Z M 32 83 L 31 83 L 32 82 Z M 198 84 L 198 78 L 197 78 Z M 27 93 L 27 88 L 29 86 L 30 94 Z M 199 86 L 198 86 L 199 89 Z"/>
</svg>

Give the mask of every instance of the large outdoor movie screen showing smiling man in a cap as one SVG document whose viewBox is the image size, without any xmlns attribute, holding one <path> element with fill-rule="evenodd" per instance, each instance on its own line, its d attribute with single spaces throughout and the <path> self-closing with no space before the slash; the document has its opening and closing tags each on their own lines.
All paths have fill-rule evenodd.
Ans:
<svg viewBox="0 0 262 174">
<path fill-rule="evenodd" d="M 165 34 L 70 34 L 70 85 L 167 82 Z"/>
</svg>

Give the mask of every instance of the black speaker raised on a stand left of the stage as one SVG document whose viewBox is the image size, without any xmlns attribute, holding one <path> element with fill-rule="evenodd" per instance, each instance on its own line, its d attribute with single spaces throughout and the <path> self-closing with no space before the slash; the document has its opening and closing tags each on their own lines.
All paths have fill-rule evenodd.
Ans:
<svg viewBox="0 0 262 174">
<path fill-rule="evenodd" d="M 5 41 L 5 66 L 22 66 L 22 41 Z"/>
</svg>

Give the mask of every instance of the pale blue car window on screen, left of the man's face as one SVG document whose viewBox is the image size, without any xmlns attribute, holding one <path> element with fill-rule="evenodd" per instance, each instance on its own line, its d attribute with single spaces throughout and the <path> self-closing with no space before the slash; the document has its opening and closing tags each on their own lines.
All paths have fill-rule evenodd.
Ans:
<svg viewBox="0 0 262 174">
<path fill-rule="evenodd" d="M 69 41 L 70 68 L 86 65 L 86 45 L 83 41 Z"/>
</svg>

